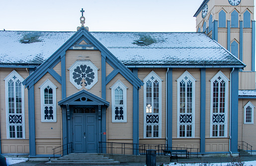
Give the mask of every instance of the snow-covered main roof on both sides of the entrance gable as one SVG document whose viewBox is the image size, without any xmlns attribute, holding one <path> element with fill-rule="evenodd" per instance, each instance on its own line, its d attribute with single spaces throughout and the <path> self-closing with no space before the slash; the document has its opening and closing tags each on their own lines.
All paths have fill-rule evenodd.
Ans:
<svg viewBox="0 0 256 166">
<path fill-rule="evenodd" d="M 197 32 L 90 32 L 125 65 L 245 66 Z M 0 64 L 41 64 L 75 32 L 0 31 Z M 24 42 L 29 40 L 29 42 Z M 142 43 L 138 42 L 142 41 Z"/>
</svg>

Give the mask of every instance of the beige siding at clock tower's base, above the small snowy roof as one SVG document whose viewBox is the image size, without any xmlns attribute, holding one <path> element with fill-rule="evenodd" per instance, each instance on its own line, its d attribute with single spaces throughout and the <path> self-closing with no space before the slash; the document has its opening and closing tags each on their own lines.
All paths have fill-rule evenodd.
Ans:
<svg viewBox="0 0 256 166">
<path fill-rule="evenodd" d="M 256 72 L 239 72 L 239 90 L 255 90 Z"/>
</svg>

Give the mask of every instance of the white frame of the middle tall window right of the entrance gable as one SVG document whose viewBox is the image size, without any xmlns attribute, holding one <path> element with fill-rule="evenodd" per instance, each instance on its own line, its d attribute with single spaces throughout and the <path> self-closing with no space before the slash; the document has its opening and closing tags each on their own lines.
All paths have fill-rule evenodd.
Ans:
<svg viewBox="0 0 256 166">
<path fill-rule="evenodd" d="M 188 80 L 190 80 L 192 82 L 192 113 L 180 113 L 180 82 L 181 81 L 186 83 L 188 82 Z M 185 71 L 177 80 L 177 138 L 194 138 L 195 137 L 195 78 L 187 71 Z M 186 105 L 187 105 L 187 86 L 185 86 L 185 111 L 186 111 Z M 192 115 L 192 123 L 180 123 L 180 119 L 179 119 L 179 115 L 180 114 L 191 114 Z M 186 136 L 186 126 L 187 125 L 192 125 L 192 136 L 191 137 L 187 137 Z M 180 125 L 185 125 L 185 137 L 180 137 L 179 136 L 179 127 Z"/>
</svg>

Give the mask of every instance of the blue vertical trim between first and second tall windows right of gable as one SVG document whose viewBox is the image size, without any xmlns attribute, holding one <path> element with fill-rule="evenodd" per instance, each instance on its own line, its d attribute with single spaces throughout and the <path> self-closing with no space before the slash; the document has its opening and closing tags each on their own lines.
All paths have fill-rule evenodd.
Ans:
<svg viewBox="0 0 256 166">
<path fill-rule="evenodd" d="M 167 72 L 167 144 L 172 147 L 172 69 Z"/>
</svg>

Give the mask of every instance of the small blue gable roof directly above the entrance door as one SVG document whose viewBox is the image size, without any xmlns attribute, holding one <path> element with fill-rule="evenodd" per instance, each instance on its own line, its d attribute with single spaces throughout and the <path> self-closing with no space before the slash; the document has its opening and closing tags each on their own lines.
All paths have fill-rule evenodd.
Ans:
<svg viewBox="0 0 256 166">
<path fill-rule="evenodd" d="M 85 99 L 83 99 L 85 98 Z M 59 105 L 106 105 L 109 106 L 109 102 L 100 98 L 89 91 L 82 89 L 69 97 L 62 99 L 58 102 Z"/>
</svg>

